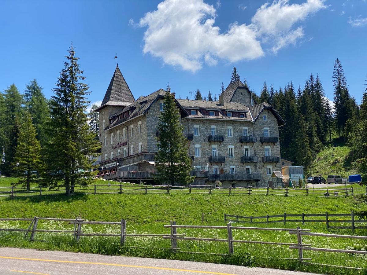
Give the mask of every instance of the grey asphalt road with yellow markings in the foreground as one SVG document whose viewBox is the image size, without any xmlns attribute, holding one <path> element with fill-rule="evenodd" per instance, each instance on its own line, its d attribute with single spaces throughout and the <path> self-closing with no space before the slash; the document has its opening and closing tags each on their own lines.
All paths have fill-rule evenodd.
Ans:
<svg viewBox="0 0 367 275">
<path fill-rule="evenodd" d="M 309 273 L 189 261 L 1 247 L 0 274 L 300 275 Z"/>
</svg>

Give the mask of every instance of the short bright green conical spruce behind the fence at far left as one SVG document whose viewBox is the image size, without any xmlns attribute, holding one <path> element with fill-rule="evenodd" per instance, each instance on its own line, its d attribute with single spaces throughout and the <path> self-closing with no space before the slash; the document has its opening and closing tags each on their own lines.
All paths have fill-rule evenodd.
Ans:
<svg viewBox="0 0 367 275">
<path fill-rule="evenodd" d="M 32 124 L 30 113 L 26 112 L 11 167 L 13 176 L 19 179 L 17 184 L 26 187 L 27 191 L 31 183 L 39 183 L 43 173 L 40 153 L 41 145 L 36 137 L 36 128 Z"/>
</svg>

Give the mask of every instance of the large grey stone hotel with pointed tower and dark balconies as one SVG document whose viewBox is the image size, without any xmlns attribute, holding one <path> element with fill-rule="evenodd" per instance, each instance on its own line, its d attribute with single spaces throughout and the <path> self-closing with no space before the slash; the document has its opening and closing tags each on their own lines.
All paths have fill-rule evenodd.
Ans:
<svg viewBox="0 0 367 275">
<path fill-rule="evenodd" d="M 135 99 L 119 67 L 98 107 L 101 174 L 105 178 L 153 183 L 158 118 L 165 91 Z M 268 103 L 257 103 L 237 81 L 219 101 L 176 99 L 189 142 L 197 184 L 268 185 L 281 171 L 279 126 L 284 120 Z M 103 168 L 102 168 L 103 167 Z"/>
</svg>

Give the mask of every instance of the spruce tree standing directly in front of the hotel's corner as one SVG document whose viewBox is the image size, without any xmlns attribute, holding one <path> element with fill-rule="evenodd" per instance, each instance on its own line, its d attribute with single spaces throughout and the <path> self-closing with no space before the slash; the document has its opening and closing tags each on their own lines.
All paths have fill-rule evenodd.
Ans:
<svg viewBox="0 0 367 275">
<path fill-rule="evenodd" d="M 194 177 L 190 176 L 192 161 L 188 155 L 189 145 L 183 136 L 180 112 L 169 85 L 157 129 L 159 135 L 157 137 L 158 151 L 155 154 L 157 172 L 155 179 L 159 183 L 171 185 L 192 183 Z"/>
</svg>

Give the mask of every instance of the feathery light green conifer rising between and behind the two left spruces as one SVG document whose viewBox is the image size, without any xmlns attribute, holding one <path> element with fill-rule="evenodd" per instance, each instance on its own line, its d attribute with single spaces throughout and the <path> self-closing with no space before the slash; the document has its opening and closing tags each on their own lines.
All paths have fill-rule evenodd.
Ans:
<svg viewBox="0 0 367 275">
<path fill-rule="evenodd" d="M 42 93 L 42 87 L 38 85 L 37 80 L 33 79 L 29 85 L 26 85 L 24 91 L 25 107 L 30 112 L 33 125 L 36 128 L 37 139 L 41 146 L 46 144 L 47 135 L 45 133 L 46 121 L 50 116 L 50 109 L 46 97 Z"/>
</svg>

